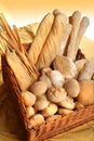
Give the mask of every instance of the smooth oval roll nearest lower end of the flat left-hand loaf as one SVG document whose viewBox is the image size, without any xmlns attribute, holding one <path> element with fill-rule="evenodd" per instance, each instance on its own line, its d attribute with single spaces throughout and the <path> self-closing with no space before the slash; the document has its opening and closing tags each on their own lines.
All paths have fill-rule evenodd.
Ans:
<svg viewBox="0 0 94 141">
<path fill-rule="evenodd" d="M 46 92 L 48 86 L 43 81 L 37 81 L 30 87 L 30 91 L 35 93 L 35 95 L 42 95 Z"/>
</svg>

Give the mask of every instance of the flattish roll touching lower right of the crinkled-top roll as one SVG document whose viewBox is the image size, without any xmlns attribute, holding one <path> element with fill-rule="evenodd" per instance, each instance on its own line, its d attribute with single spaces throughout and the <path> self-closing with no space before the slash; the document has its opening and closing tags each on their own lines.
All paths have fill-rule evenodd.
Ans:
<svg viewBox="0 0 94 141">
<path fill-rule="evenodd" d="M 69 110 L 73 110 L 75 108 L 73 99 L 70 98 L 70 97 L 66 97 L 63 101 L 61 101 L 57 104 L 63 106 L 63 107 L 69 108 Z"/>
</svg>

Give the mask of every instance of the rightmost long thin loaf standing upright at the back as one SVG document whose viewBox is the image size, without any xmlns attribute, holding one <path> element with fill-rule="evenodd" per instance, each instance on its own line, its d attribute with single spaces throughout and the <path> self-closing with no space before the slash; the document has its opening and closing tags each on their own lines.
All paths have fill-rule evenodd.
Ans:
<svg viewBox="0 0 94 141">
<path fill-rule="evenodd" d="M 80 23 L 80 28 L 79 28 L 79 31 L 78 31 L 78 35 L 77 35 L 77 40 L 76 40 L 76 44 L 75 44 L 75 52 L 73 52 L 73 60 L 76 60 L 78 48 L 80 46 L 81 39 L 82 39 L 89 24 L 90 24 L 89 18 L 86 16 L 84 16 L 82 18 L 81 23 Z"/>
</svg>

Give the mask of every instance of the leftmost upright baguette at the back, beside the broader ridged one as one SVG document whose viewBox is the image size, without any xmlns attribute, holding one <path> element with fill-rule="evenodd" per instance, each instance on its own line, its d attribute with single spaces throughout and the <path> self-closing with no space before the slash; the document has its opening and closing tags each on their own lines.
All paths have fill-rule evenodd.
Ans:
<svg viewBox="0 0 94 141">
<path fill-rule="evenodd" d="M 31 43 L 31 47 L 28 51 L 29 61 L 32 62 L 33 64 L 37 62 L 39 57 L 39 54 L 42 50 L 45 39 L 52 28 L 53 22 L 54 22 L 54 15 L 49 13 L 43 17 L 42 22 L 38 27 L 35 40 Z"/>
</svg>

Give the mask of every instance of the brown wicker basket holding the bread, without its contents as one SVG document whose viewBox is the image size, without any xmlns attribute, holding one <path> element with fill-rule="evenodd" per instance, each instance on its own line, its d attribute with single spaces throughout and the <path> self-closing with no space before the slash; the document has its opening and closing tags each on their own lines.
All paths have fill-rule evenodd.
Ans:
<svg viewBox="0 0 94 141">
<path fill-rule="evenodd" d="M 81 52 L 80 52 L 81 53 Z M 82 57 L 83 55 L 78 55 Z M 59 117 L 55 120 L 44 123 L 32 129 L 28 129 L 28 118 L 26 117 L 26 107 L 22 100 L 21 89 L 14 73 L 6 63 L 5 56 L 2 56 L 2 74 L 5 85 L 9 88 L 9 97 L 15 102 L 16 108 L 18 108 L 18 115 L 27 131 L 27 141 L 43 141 L 52 138 L 78 126 L 81 126 L 88 121 L 94 120 L 94 104 L 86 106 L 82 110 L 75 111 L 73 113 Z"/>
</svg>

